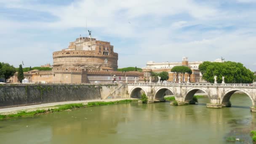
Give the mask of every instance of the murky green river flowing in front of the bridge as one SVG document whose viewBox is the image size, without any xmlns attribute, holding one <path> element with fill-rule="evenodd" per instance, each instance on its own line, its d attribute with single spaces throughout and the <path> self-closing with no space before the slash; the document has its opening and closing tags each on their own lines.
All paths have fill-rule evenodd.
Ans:
<svg viewBox="0 0 256 144">
<path fill-rule="evenodd" d="M 251 144 L 256 113 L 245 94 L 231 97 L 232 107 L 117 104 L 0 121 L 1 144 Z"/>
</svg>

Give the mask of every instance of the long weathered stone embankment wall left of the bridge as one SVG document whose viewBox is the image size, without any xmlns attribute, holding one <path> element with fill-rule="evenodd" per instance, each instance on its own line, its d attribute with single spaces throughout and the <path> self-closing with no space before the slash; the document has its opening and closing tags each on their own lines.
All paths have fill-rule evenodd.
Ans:
<svg viewBox="0 0 256 144">
<path fill-rule="evenodd" d="M 120 85 L 99 84 L 44 84 L 44 85 L 0 85 L 0 107 L 103 99 Z M 124 87 L 125 88 L 125 87 Z M 120 88 L 118 91 L 125 91 Z M 111 98 L 126 98 L 125 92 L 114 93 Z M 119 95 L 120 94 L 120 95 Z"/>
</svg>

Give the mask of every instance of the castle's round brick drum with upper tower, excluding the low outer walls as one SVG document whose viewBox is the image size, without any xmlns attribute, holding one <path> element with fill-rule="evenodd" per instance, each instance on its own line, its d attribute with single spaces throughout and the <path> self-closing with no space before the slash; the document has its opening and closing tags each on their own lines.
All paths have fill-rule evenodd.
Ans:
<svg viewBox="0 0 256 144">
<path fill-rule="evenodd" d="M 118 54 L 109 42 L 79 37 L 62 51 L 53 52 L 53 71 L 68 69 L 117 70 Z"/>
</svg>

